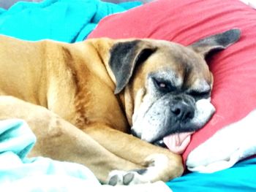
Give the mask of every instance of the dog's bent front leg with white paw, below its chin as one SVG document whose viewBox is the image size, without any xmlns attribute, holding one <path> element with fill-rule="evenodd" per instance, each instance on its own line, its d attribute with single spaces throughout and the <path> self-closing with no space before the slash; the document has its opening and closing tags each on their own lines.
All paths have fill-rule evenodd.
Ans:
<svg viewBox="0 0 256 192">
<path fill-rule="evenodd" d="M 101 124 L 91 125 L 84 131 L 111 153 L 144 167 L 128 172 L 122 171 L 124 169 L 110 172 L 110 185 L 167 181 L 180 176 L 184 171 L 181 156 L 171 153 L 170 150 L 151 145 Z"/>
</svg>

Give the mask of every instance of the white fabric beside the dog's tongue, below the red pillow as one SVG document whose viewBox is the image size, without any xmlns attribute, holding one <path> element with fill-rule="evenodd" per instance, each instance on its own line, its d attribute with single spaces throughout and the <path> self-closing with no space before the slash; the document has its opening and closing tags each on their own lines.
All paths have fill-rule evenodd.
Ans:
<svg viewBox="0 0 256 192">
<path fill-rule="evenodd" d="M 187 167 L 192 172 L 217 172 L 256 154 L 256 110 L 242 120 L 217 131 L 189 153 Z"/>
</svg>

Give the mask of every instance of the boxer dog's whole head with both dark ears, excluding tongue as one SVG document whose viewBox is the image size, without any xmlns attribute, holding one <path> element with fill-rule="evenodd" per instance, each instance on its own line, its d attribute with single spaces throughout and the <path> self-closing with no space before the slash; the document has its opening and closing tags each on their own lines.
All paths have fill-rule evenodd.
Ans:
<svg viewBox="0 0 256 192">
<path fill-rule="evenodd" d="M 155 143 L 169 134 L 201 128 L 214 113 L 213 76 L 205 56 L 239 37 L 240 31 L 233 29 L 188 47 L 151 39 L 116 43 L 109 64 L 115 93 L 124 95 L 132 134 Z"/>
</svg>

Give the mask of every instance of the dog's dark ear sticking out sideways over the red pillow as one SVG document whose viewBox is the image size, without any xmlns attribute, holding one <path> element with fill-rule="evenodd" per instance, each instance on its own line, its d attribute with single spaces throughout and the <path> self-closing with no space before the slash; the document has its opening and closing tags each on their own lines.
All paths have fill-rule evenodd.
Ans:
<svg viewBox="0 0 256 192">
<path fill-rule="evenodd" d="M 240 38 L 241 31 L 238 28 L 230 29 L 221 34 L 215 34 L 189 45 L 195 52 L 206 56 L 212 50 L 223 50 Z"/>
</svg>

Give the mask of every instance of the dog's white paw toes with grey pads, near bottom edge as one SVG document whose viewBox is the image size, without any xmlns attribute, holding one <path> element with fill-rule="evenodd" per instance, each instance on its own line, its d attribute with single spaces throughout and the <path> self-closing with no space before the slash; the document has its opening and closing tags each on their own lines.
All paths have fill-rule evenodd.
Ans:
<svg viewBox="0 0 256 192">
<path fill-rule="evenodd" d="M 143 172 L 146 172 L 146 169 L 128 172 L 114 170 L 109 174 L 108 185 L 135 185 L 140 183 L 150 183 L 143 174 L 140 174 Z"/>
</svg>

